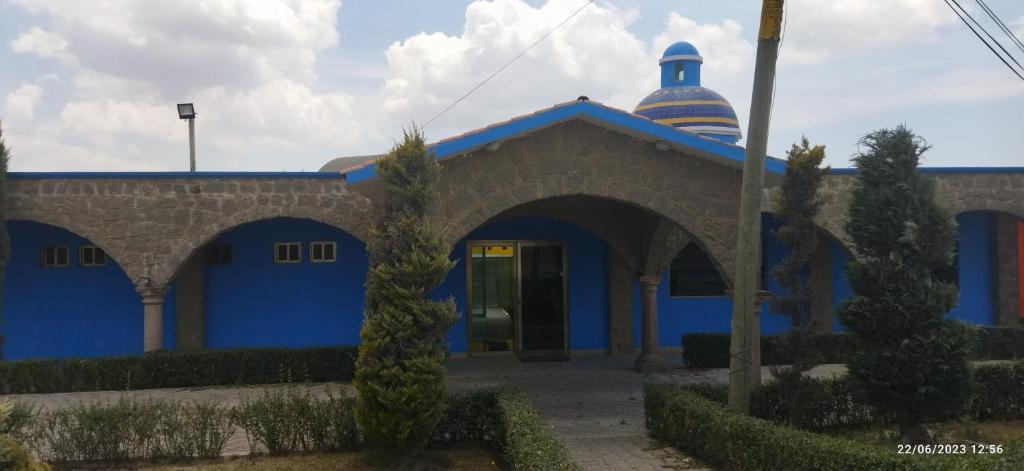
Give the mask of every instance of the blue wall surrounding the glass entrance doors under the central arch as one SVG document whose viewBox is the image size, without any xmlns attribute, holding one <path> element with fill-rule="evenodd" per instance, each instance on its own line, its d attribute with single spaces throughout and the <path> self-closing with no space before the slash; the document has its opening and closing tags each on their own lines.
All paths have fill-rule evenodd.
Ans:
<svg viewBox="0 0 1024 471">
<path fill-rule="evenodd" d="M 523 216 L 483 225 L 456 245 L 458 260 L 444 283 L 434 290 L 437 299 L 454 296 L 459 322 L 449 334 L 453 352 L 465 352 L 466 339 L 466 241 L 540 240 L 565 243 L 568 259 L 569 349 L 608 346 L 608 248 L 604 241 L 574 224 L 537 216 Z"/>
</svg>

